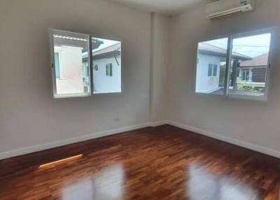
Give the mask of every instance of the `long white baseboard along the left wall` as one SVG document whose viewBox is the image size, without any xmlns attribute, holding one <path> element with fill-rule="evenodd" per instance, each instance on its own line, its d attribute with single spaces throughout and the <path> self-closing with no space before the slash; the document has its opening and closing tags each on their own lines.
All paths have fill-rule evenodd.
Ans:
<svg viewBox="0 0 280 200">
<path fill-rule="evenodd" d="M 69 144 L 73 144 L 73 143 L 78 143 L 78 142 L 82 142 L 82 141 L 88 141 L 94 138 L 100 138 L 103 136 L 109 136 L 109 135 L 113 135 L 113 134 L 120 134 L 126 131 L 132 131 L 135 129 L 141 129 L 144 127 L 156 127 L 158 126 L 158 124 L 162 124 L 160 122 L 148 122 L 148 123 L 144 123 L 144 124 L 136 124 L 136 125 L 132 125 L 130 127 L 122 127 L 122 128 L 118 128 L 118 129 L 112 129 L 109 131 L 101 131 L 101 132 L 97 132 L 94 134 L 88 134 L 88 135 L 84 135 L 84 136 L 77 136 L 74 138 L 68 138 L 65 140 L 61 140 L 61 141 L 55 141 L 55 142 L 51 142 L 51 143 L 45 143 L 45 144 L 41 144 L 41 145 L 34 145 L 34 146 L 30 146 L 27 148 L 20 148 L 20 149 L 16 149 L 16 150 L 11 150 L 11 151 L 7 151 L 7 152 L 1 152 L 0 153 L 0 160 L 1 159 L 6 159 L 9 157 L 15 157 L 15 156 L 19 156 L 19 155 L 26 155 L 29 154 L 31 152 L 38 152 L 41 150 L 48 150 L 51 148 L 57 148 L 59 146 L 63 146 L 63 145 L 69 145 Z"/>
</svg>

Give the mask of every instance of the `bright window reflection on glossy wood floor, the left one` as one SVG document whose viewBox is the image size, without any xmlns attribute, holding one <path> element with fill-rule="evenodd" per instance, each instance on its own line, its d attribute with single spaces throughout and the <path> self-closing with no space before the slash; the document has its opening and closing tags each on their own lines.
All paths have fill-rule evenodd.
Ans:
<svg viewBox="0 0 280 200">
<path fill-rule="evenodd" d="M 122 164 L 102 170 L 97 176 L 66 185 L 63 200 L 123 199 L 124 171 Z"/>
</svg>

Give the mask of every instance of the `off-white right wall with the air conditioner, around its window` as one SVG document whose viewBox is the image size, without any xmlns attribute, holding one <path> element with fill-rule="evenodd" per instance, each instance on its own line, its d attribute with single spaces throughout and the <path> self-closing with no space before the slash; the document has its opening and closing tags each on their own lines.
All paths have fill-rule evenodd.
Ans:
<svg viewBox="0 0 280 200">
<path fill-rule="evenodd" d="M 280 151 L 280 1 L 257 0 L 250 13 L 207 20 L 205 1 L 172 18 L 168 70 L 170 120 Z M 195 94 L 197 42 L 224 34 L 277 27 L 267 102 Z"/>
</svg>

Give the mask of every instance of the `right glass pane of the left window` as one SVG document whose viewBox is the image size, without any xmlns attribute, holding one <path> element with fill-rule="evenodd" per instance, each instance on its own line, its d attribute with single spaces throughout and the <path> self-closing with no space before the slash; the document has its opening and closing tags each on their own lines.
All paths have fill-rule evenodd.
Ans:
<svg viewBox="0 0 280 200">
<path fill-rule="evenodd" d="M 94 94 L 121 92 L 121 42 L 92 38 Z"/>
</svg>

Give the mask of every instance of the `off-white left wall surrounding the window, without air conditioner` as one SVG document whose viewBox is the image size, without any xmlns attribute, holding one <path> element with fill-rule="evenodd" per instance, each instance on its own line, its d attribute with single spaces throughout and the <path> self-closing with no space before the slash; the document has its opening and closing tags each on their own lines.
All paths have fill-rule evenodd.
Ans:
<svg viewBox="0 0 280 200">
<path fill-rule="evenodd" d="M 53 99 L 48 28 L 123 41 L 123 94 Z M 104 0 L 1 0 L 0 29 L 0 152 L 150 120 L 150 13 Z"/>
</svg>

